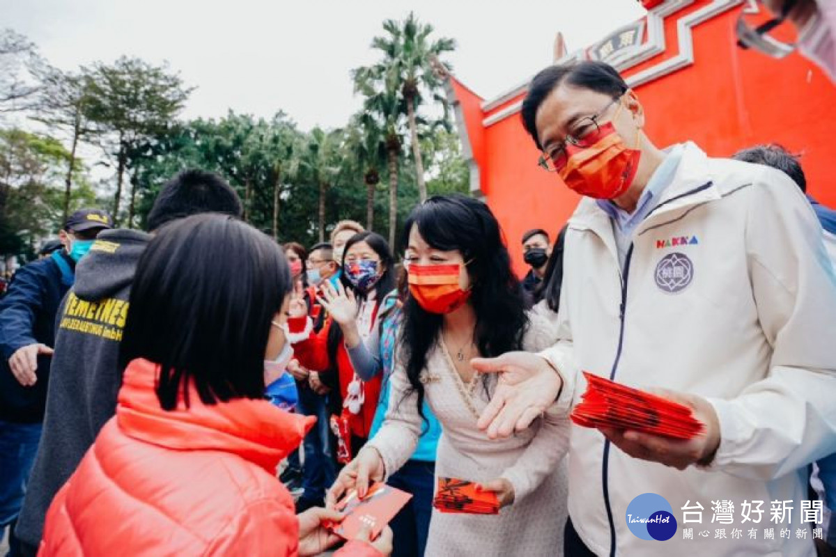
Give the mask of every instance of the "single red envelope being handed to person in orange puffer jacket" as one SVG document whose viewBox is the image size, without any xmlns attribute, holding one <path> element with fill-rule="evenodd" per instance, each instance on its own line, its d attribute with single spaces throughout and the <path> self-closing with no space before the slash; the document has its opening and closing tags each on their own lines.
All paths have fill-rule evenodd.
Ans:
<svg viewBox="0 0 836 557">
<path fill-rule="evenodd" d="M 412 494 L 383 482 L 372 484 L 364 499 L 359 499 L 356 491 L 349 491 L 349 494 L 334 507 L 346 516 L 342 522 L 333 524 L 330 529 L 344 539 L 354 539 L 363 526 L 368 524 L 371 527 L 371 537 L 374 539 L 410 499 Z"/>
</svg>

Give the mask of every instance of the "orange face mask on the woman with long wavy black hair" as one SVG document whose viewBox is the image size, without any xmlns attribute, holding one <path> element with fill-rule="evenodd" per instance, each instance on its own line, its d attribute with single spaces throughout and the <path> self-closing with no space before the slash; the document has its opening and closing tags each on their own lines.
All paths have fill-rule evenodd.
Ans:
<svg viewBox="0 0 836 557">
<path fill-rule="evenodd" d="M 459 286 L 460 264 L 410 265 L 410 294 L 430 313 L 456 311 L 470 298 L 471 291 Z"/>
</svg>

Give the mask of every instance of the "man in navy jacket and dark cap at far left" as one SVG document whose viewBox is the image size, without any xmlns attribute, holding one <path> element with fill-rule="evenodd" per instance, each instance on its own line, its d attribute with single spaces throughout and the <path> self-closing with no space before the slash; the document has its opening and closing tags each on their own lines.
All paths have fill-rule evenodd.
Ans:
<svg viewBox="0 0 836 557">
<path fill-rule="evenodd" d="M 0 531 L 18 518 L 38 450 L 55 315 L 76 263 L 111 224 L 110 215 L 98 209 L 69 215 L 59 234 L 63 249 L 20 269 L 0 301 Z M 14 553 L 13 534 L 9 545 Z"/>
</svg>

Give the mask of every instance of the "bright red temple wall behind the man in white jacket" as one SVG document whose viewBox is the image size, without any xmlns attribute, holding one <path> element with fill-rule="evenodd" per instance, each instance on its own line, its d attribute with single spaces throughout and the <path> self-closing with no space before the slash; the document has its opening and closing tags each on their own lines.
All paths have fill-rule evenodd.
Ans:
<svg viewBox="0 0 836 557">
<path fill-rule="evenodd" d="M 706 3 L 702 0 L 666 18 L 665 53 L 624 71 L 624 75 L 629 77 L 675 55 L 676 21 Z M 635 89 L 645 106 L 646 131 L 659 146 L 692 140 L 712 156 L 729 156 L 757 143 L 783 144 L 803 154 L 808 192 L 823 204 L 836 207 L 829 167 L 836 156 L 832 139 L 836 88 L 798 54 L 772 60 L 737 48 L 734 23 L 739 9 L 732 8 L 692 29 L 693 64 Z M 473 99 L 466 104 L 468 135 L 476 139 L 474 158 L 482 191 L 502 224 L 515 269 L 522 274 L 526 271 L 520 246 L 523 232 L 543 228 L 556 235 L 579 197 L 556 175 L 538 167 L 539 153 L 525 133 L 519 113 L 477 132 L 472 128 L 482 126 L 477 114 L 481 109 L 474 109 Z M 512 103 L 503 103 L 482 116 L 496 114 L 508 104 Z"/>
</svg>

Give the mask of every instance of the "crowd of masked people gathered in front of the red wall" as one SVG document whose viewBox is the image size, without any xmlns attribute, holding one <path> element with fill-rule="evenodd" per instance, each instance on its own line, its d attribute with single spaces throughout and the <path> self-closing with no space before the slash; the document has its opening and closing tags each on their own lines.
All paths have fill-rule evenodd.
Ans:
<svg viewBox="0 0 836 557">
<path fill-rule="evenodd" d="M 836 68 L 833 3 L 769 4 Z M 772 28 L 738 33 L 766 49 Z M 201 170 L 147 230 L 74 212 L 0 298 L 9 555 L 836 553 L 836 212 L 779 145 L 660 149 L 645 108 L 606 63 L 533 78 L 523 126 L 584 197 L 556 236 L 523 235 L 522 279 L 464 195 L 415 206 L 398 253 L 351 220 L 278 246 Z M 583 372 L 701 433 L 573 424 Z M 439 478 L 501 509 L 440 512 Z M 377 536 L 334 534 L 339 500 L 379 481 L 409 503 Z M 641 494 L 828 512 L 804 535 L 658 543 L 630 527 Z"/>
</svg>

